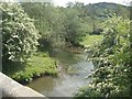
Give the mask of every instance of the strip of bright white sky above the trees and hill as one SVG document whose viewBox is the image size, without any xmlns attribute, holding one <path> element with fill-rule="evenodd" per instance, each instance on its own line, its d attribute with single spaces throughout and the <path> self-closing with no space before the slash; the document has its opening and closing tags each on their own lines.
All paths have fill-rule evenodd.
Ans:
<svg viewBox="0 0 132 99">
<path fill-rule="evenodd" d="M 130 2 L 131 0 L 53 0 L 53 2 L 56 4 L 56 6 L 59 6 L 59 7 L 65 7 L 65 4 L 67 2 L 84 2 L 85 4 L 88 4 L 88 3 L 98 3 L 98 2 L 113 2 L 113 3 L 119 3 L 119 4 L 127 4 L 127 2 Z"/>
</svg>

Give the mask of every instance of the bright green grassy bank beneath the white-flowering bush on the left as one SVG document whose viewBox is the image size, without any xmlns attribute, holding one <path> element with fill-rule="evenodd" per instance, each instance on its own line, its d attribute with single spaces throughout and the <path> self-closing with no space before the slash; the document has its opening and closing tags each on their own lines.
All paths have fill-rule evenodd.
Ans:
<svg viewBox="0 0 132 99">
<path fill-rule="evenodd" d="M 11 78 L 20 82 L 29 82 L 43 75 L 57 75 L 55 59 L 47 53 L 35 53 L 24 68 L 9 74 Z"/>
</svg>

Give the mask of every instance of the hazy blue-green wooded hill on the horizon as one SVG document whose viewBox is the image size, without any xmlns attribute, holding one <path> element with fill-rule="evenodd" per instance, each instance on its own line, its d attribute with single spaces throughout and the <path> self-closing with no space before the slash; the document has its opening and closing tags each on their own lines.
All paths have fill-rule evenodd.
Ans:
<svg viewBox="0 0 132 99">
<path fill-rule="evenodd" d="M 129 7 L 117 3 L 99 2 L 94 4 L 87 4 L 85 8 L 89 15 L 96 15 L 99 18 L 108 18 L 116 13 L 118 16 L 130 16 Z"/>
</svg>

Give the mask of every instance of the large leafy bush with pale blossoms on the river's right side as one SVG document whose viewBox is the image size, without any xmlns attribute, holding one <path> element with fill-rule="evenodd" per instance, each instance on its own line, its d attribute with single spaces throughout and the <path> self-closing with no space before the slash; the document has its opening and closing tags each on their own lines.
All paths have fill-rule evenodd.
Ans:
<svg viewBox="0 0 132 99">
<path fill-rule="evenodd" d="M 77 96 L 129 97 L 132 62 L 130 58 L 130 20 L 112 16 L 103 24 L 103 41 L 92 47 L 92 82 Z M 92 91 L 88 91 L 92 90 Z M 82 92 L 82 94 L 81 94 Z"/>
</svg>

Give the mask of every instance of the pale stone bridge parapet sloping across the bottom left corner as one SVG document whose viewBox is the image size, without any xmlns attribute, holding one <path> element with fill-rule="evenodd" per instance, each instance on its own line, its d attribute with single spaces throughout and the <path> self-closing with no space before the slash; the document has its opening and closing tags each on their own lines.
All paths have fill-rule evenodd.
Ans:
<svg viewBox="0 0 132 99">
<path fill-rule="evenodd" d="M 0 72 L 0 98 L 2 97 L 40 97 L 47 99 L 45 96 L 35 90 L 25 87 Z"/>
</svg>

